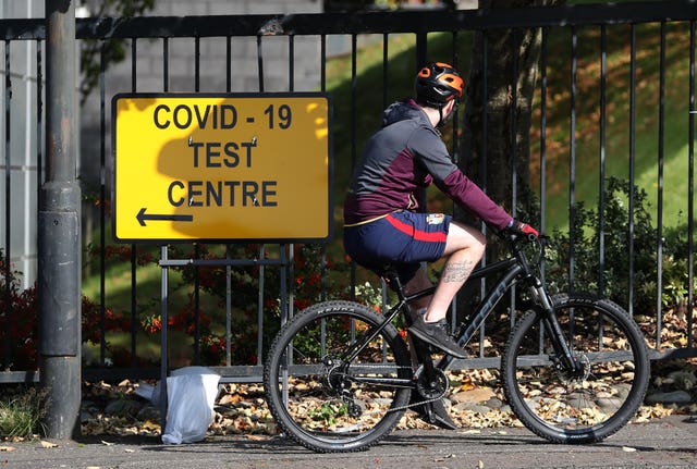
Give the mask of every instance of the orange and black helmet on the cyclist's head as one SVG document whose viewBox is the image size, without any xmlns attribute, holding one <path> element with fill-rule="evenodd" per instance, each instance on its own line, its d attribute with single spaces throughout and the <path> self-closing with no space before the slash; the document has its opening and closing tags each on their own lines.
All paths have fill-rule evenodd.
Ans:
<svg viewBox="0 0 697 469">
<path fill-rule="evenodd" d="M 453 99 L 462 98 L 465 82 L 448 63 L 432 62 L 419 70 L 414 88 L 416 101 L 440 108 Z"/>
</svg>

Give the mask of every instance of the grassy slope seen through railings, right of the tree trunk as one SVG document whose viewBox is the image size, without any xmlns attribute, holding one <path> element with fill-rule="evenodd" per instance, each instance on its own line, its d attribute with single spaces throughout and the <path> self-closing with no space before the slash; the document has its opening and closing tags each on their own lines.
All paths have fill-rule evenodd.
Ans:
<svg viewBox="0 0 697 469">
<path fill-rule="evenodd" d="M 667 27 L 667 75 L 664 97 L 664 223 L 684 223 L 681 211 L 686 209 L 688 184 L 688 25 Z M 629 152 L 634 152 L 635 184 L 647 190 L 656 219 L 658 200 L 659 155 L 659 26 L 639 25 L 636 28 L 636 90 L 631 107 L 628 26 L 608 28 L 607 58 L 607 127 L 606 174 L 629 178 Z M 548 186 L 550 192 L 550 225 L 566 224 L 570 188 L 570 121 L 567 82 L 567 38 L 555 37 L 550 46 L 548 104 Z M 597 28 L 579 32 L 576 97 L 576 186 L 575 200 L 597 201 L 600 168 L 599 102 L 600 50 Z M 631 116 L 634 113 L 634 136 Z M 539 129 L 537 129 L 539 134 Z M 634 140 L 632 140 L 634 138 Z M 537 148 L 539 151 L 539 146 Z"/>
</svg>

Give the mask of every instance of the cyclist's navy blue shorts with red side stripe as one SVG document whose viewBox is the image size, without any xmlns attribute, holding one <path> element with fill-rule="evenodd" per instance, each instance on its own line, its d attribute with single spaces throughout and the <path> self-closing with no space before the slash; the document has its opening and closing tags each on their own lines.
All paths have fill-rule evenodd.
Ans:
<svg viewBox="0 0 697 469">
<path fill-rule="evenodd" d="M 408 282 L 419 262 L 443 257 L 452 217 L 442 213 L 400 211 L 354 226 L 344 227 L 344 248 L 358 264 L 384 276 L 386 264 Z"/>
</svg>

